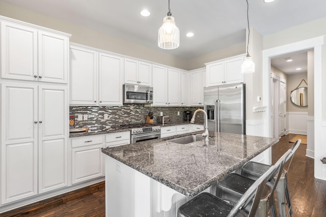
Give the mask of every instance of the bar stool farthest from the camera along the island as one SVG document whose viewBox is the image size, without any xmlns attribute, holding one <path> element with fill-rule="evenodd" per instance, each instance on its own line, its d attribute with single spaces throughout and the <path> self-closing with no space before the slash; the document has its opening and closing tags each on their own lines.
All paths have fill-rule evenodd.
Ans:
<svg viewBox="0 0 326 217">
<path fill-rule="evenodd" d="M 287 170 L 283 169 L 282 175 L 280 177 L 280 180 L 277 184 L 276 187 L 276 193 L 277 193 L 277 203 L 279 206 L 279 211 L 280 211 L 280 216 L 284 217 L 287 216 L 289 213 L 291 217 L 293 217 L 293 212 L 292 212 L 292 205 L 291 205 L 291 200 L 290 200 L 290 193 L 289 193 L 289 186 L 288 186 L 288 181 L 287 181 L 287 171 L 290 168 L 294 153 L 296 149 L 300 146 L 301 144 L 301 139 L 298 139 L 294 142 L 294 144 L 291 147 L 291 153 L 289 156 L 286 158 L 286 162 L 289 160 L 289 166 Z M 266 164 L 261 164 L 257 162 L 252 162 L 249 161 L 246 164 L 244 164 L 241 168 L 241 175 L 244 175 L 246 177 L 250 177 L 252 179 L 257 179 L 259 176 L 265 173 L 270 168 L 270 165 Z M 275 180 L 275 177 L 272 181 Z M 285 202 L 285 199 L 287 203 Z M 288 206 L 288 213 L 285 211 L 285 204 Z"/>
</svg>

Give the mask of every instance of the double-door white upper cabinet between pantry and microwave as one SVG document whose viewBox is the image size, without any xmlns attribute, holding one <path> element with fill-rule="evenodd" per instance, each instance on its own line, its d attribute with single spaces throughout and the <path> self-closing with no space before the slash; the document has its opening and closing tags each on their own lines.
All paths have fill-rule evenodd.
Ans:
<svg viewBox="0 0 326 217">
<path fill-rule="evenodd" d="M 71 105 L 122 105 L 122 57 L 72 43 L 70 68 Z"/>
</svg>

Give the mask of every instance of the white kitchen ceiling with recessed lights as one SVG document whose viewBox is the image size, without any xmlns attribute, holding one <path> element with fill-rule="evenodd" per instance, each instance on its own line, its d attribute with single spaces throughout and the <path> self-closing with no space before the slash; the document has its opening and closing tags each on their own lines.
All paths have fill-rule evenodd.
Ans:
<svg viewBox="0 0 326 217">
<path fill-rule="evenodd" d="M 246 0 L 171 0 L 180 29 L 180 47 L 162 50 L 157 31 L 168 12 L 168 0 L 2 0 L 48 16 L 83 25 L 185 59 L 196 57 L 246 38 Z M 262 35 L 326 16 L 325 0 L 249 1 L 249 20 Z M 149 17 L 140 11 L 147 9 Z M 187 38 L 187 32 L 195 36 Z"/>
</svg>

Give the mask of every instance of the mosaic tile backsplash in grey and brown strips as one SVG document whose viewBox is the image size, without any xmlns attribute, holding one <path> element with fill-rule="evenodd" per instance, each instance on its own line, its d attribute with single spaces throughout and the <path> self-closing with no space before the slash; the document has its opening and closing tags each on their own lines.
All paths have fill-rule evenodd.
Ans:
<svg viewBox="0 0 326 217">
<path fill-rule="evenodd" d="M 182 121 L 184 111 L 189 110 L 194 114 L 199 108 L 202 107 L 145 107 L 143 104 L 124 104 L 121 107 L 70 106 L 69 115 L 75 115 L 75 128 L 88 127 L 89 132 L 98 132 L 129 123 L 145 123 L 149 111 L 153 112 L 153 123 L 157 123 L 160 112 L 170 116 L 171 121 Z M 86 114 L 87 120 L 78 120 L 78 114 Z M 203 123 L 202 113 L 196 115 L 196 123 Z"/>
</svg>

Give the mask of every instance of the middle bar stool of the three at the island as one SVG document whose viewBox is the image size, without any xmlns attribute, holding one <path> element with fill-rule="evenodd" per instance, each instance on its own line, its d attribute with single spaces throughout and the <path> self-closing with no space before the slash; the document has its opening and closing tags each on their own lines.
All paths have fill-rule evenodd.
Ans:
<svg viewBox="0 0 326 217">
<path fill-rule="evenodd" d="M 277 165 L 277 168 L 273 172 L 269 173 L 267 180 L 272 179 L 276 174 L 278 175 L 274 185 L 271 187 L 271 191 L 268 192 L 267 196 L 261 198 L 259 209 L 256 210 L 256 216 L 267 216 L 270 209 L 273 213 L 273 216 L 277 216 L 274 192 L 281 177 L 280 172 L 283 170 L 285 160 L 290 152 L 291 149 L 286 151 L 283 156 L 276 162 L 275 165 Z M 270 168 L 267 171 L 269 171 Z M 248 188 L 250 188 L 253 183 L 254 180 L 251 178 L 236 173 L 231 173 L 222 181 L 218 182 L 216 187 L 216 196 L 222 198 L 225 201 L 228 201 L 231 204 L 237 203 L 237 200 L 247 192 Z"/>
</svg>

